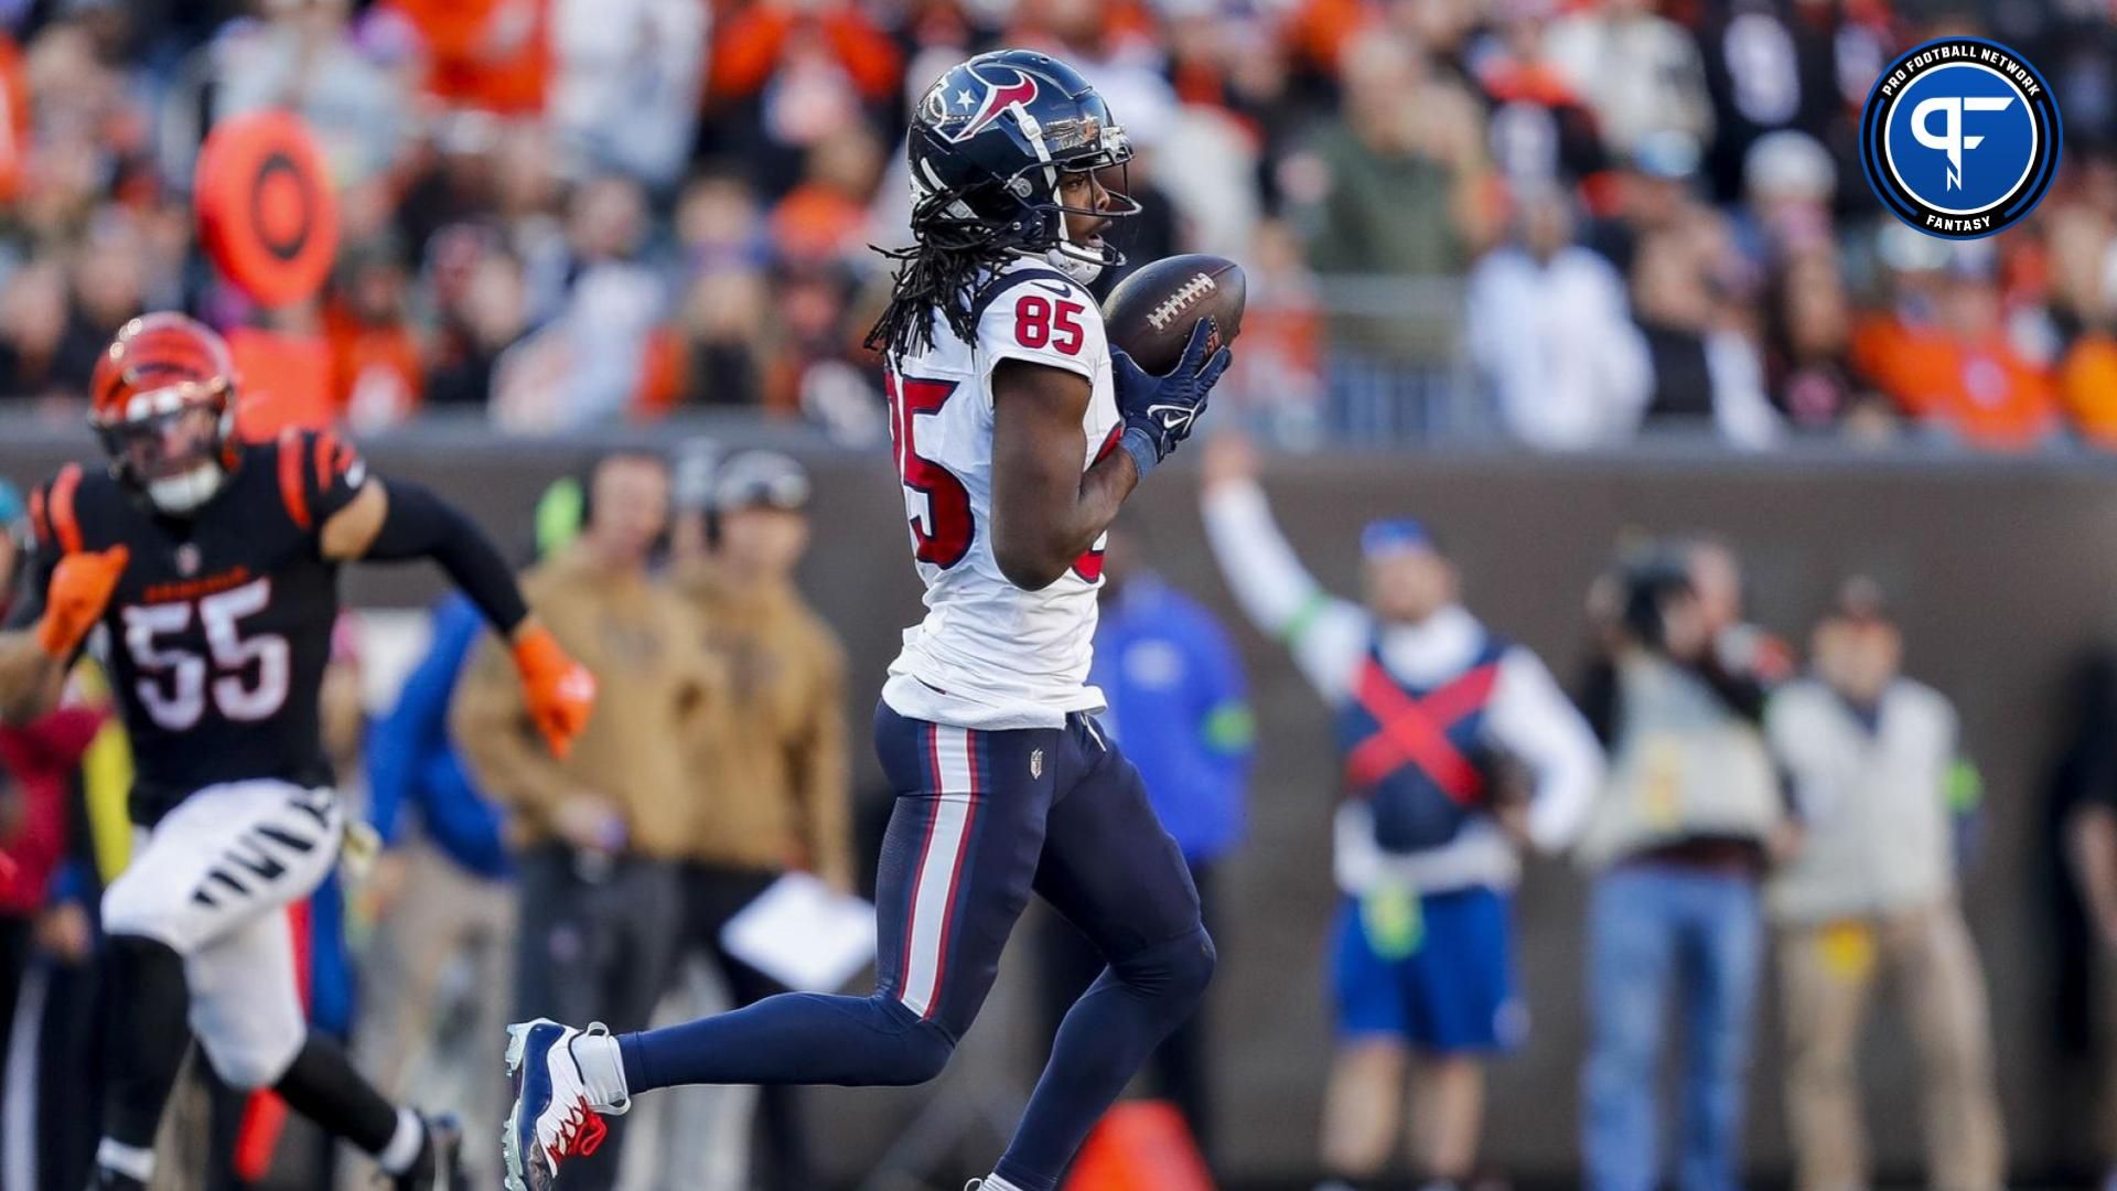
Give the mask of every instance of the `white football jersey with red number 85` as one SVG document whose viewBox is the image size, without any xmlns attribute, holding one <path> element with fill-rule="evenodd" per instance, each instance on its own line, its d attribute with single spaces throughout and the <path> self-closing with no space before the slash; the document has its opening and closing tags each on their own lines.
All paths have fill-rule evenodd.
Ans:
<svg viewBox="0 0 2117 1191">
<path fill-rule="evenodd" d="M 1088 377 L 1088 468 L 1122 432 L 1103 312 L 1039 261 L 982 295 L 976 343 L 934 318 L 934 345 L 889 369 L 889 437 L 925 621 L 904 629 L 883 699 L 902 716 L 972 729 L 1063 727 L 1103 708 L 1088 687 L 1103 538 L 1056 583 L 1023 591 L 993 559 L 993 365 L 1031 360 Z"/>
</svg>

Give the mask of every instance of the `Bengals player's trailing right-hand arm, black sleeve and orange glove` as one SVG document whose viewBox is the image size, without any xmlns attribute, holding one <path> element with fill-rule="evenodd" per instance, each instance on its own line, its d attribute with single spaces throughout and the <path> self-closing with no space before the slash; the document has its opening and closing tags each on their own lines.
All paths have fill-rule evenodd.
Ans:
<svg viewBox="0 0 2117 1191">
<path fill-rule="evenodd" d="M 514 572 L 459 509 L 417 483 L 385 487 L 381 479 L 360 475 L 343 504 L 322 521 L 318 549 L 332 562 L 438 564 L 512 646 L 514 670 L 544 742 L 559 757 L 574 748 L 595 706 L 595 676 L 529 615 Z"/>
</svg>

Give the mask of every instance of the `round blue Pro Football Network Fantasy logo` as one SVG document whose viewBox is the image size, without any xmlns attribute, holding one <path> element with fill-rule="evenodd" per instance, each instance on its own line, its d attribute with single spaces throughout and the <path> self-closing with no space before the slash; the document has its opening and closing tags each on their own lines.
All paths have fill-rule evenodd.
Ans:
<svg viewBox="0 0 2117 1191">
<path fill-rule="evenodd" d="M 1939 38 L 1888 64 L 1861 110 L 1867 184 L 1903 223 L 1979 239 L 2037 210 L 2058 174 L 2058 100 L 1984 38 Z"/>
</svg>

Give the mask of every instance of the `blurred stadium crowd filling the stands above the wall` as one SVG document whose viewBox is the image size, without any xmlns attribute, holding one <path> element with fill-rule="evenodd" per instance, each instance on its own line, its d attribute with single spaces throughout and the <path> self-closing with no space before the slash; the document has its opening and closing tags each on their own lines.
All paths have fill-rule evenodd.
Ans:
<svg viewBox="0 0 2117 1191">
<path fill-rule="evenodd" d="M 1224 407 L 1279 437 L 2117 443 L 2087 2 L 13 0 L 0 30 L 0 394 L 55 415 L 125 316 L 186 305 L 320 337 L 356 430 L 739 407 L 874 439 L 902 117 L 1027 45 L 1141 150 L 1133 259 L 1249 269 Z M 1854 157 L 1937 32 L 2022 49 L 2066 112 L 2001 242 L 1897 225 Z M 345 229 L 328 295 L 271 312 L 186 233 L 201 125 L 263 106 L 324 138 Z"/>
</svg>

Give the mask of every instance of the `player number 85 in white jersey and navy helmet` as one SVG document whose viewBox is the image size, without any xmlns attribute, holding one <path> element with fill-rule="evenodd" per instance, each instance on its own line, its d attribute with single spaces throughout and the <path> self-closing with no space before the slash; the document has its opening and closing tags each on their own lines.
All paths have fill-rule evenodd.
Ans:
<svg viewBox="0 0 2117 1191">
<path fill-rule="evenodd" d="M 874 710 L 898 790 L 876 879 L 872 996 L 788 994 L 669 1030 L 510 1030 L 510 1191 L 550 1187 L 603 1115 L 682 1083 L 904 1085 L 970 1028 L 1037 892 L 1107 960 L 1052 1043 L 987 1191 L 1054 1191 L 1090 1125 L 1213 975 L 1198 892 L 1139 771 L 1090 718 L 1103 532 L 1205 409 L 1228 350 L 1200 322 L 1169 375 L 1103 337 L 1086 284 L 1139 206 L 1101 95 L 993 51 L 912 112 L 912 233 L 870 343 L 889 371 L 925 621 Z"/>
</svg>

